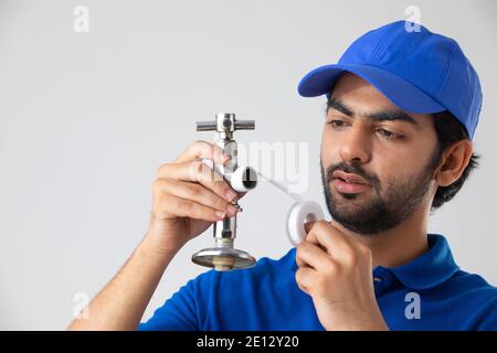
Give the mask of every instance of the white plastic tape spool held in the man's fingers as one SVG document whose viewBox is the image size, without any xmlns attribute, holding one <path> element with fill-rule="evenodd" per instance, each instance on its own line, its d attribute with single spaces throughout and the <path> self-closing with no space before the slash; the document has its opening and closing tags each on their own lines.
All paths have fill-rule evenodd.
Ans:
<svg viewBox="0 0 497 353">
<path fill-rule="evenodd" d="M 325 220 L 325 215 L 317 202 L 305 201 L 294 203 L 287 216 L 287 233 L 290 243 L 294 246 L 300 244 L 307 236 L 304 224 L 320 220 Z"/>
</svg>

